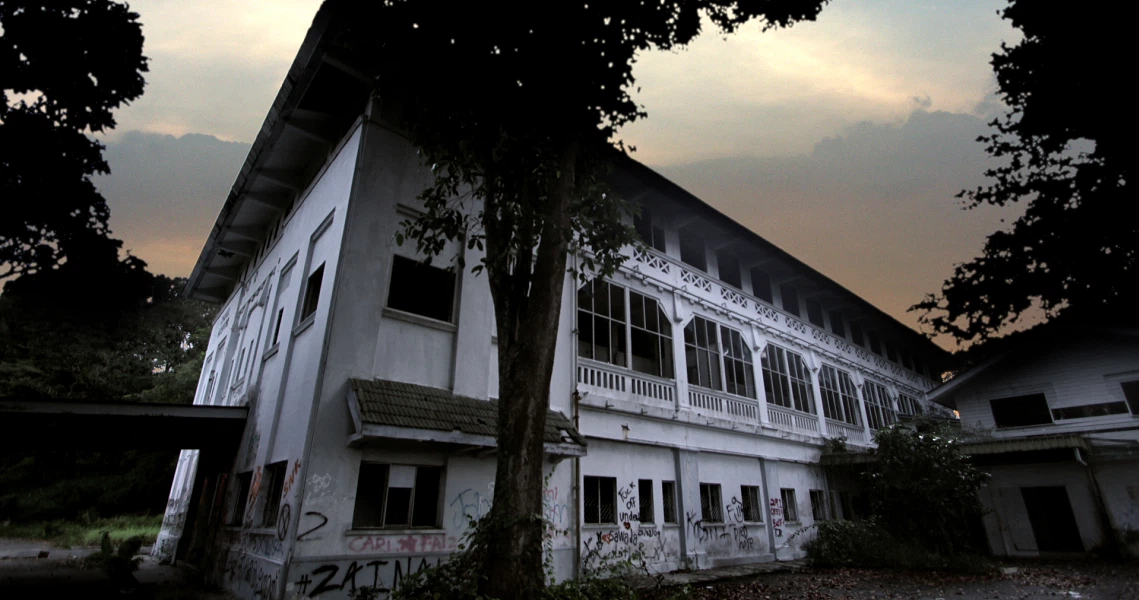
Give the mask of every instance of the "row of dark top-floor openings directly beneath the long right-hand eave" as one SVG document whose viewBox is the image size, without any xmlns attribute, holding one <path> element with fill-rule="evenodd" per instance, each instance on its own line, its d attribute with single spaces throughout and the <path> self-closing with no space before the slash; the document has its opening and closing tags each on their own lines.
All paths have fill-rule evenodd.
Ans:
<svg viewBox="0 0 1139 600">
<path fill-rule="evenodd" d="M 653 216 L 648 209 L 641 211 L 641 214 L 634 219 L 633 227 L 646 246 L 661 253 L 667 253 L 664 229 L 653 223 Z M 679 243 L 680 261 L 689 266 L 707 272 L 707 253 L 704 239 L 696 233 L 680 230 Z M 743 291 L 744 281 L 739 257 L 721 249 L 715 253 L 715 261 L 720 280 Z M 775 306 L 775 288 L 771 276 L 757 266 L 749 269 L 748 274 L 751 276 L 752 295 Z M 858 322 L 846 322 L 842 311 L 826 311 L 822 307 L 822 303 L 814 299 L 806 299 L 801 305 L 798 290 L 790 283 L 782 283 L 778 286 L 778 289 L 779 306 L 784 311 L 802 318 L 804 312 L 803 306 L 805 306 L 806 320 L 819 329 L 829 330 L 831 334 L 843 339 L 849 339 L 857 346 L 867 348 L 878 356 L 883 356 L 913 372 L 933 377 L 917 355 L 894 344 L 886 344 L 879 338 L 876 331 L 866 331 Z M 826 317 L 823 313 L 826 313 Z"/>
</svg>

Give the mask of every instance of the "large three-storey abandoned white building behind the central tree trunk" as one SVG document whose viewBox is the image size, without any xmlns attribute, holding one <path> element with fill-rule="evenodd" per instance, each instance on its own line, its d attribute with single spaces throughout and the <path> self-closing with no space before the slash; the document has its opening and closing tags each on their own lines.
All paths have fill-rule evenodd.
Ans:
<svg viewBox="0 0 1139 600">
<path fill-rule="evenodd" d="M 244 598 L 396 586 L 445 559 L 494 485 L 485 278 L 393 241 L 426 173 L 333 26 L 318 15 L 188 283 L 222 305 L 195 402 L 249 417 L 232 454 L 183 451 L 155 552 Z M 614 184 L 644 205 L 649 249 L 566 283 L 558 576 L 629 546 L 658 570 L 802 556 L 788 537 L 843 511 L 823 439 L 865 446 L 939 409 L 947 354 L 649 169 L 626 161 Z"/>
</svg>

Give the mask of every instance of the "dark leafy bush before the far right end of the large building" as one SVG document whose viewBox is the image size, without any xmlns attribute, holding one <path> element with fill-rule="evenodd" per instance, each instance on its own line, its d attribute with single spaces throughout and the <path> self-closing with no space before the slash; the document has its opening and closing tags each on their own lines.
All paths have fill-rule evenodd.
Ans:
<svg viewBox="0 0 1139 600">
<path fill-rule="evenodd" d="M 947 430 L 882 429 L 870 466 L 870 511 L 896 540 L 941 556 L 974 548 L 983 509 L 977 490 L 989 475 L 977 470 Z"/>
</svg>

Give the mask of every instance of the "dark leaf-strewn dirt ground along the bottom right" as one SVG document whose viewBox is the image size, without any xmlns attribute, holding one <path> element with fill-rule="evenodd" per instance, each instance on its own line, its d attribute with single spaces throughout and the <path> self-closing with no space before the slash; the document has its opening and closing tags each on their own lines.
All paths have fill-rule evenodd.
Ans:
<svg viewBox="0 0 1139 600">
<path fill-rule="evenodd" d="M 992 574 L 962 575 L 872 569 L 803 569 L 749 580 L 700 583 L 693 600 L 1051 599 L 1139 600 L 1139 564 L 1007 562 Z M 658 590 L 649 600 L 685 598 Z"/>
</svg>

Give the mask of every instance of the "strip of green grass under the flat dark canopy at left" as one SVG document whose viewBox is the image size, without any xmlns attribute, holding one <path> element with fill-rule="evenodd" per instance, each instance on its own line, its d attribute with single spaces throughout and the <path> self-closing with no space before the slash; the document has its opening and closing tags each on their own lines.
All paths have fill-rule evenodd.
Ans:
<svg viewBox="0 0 1139 600">
<path fill-rule="evenodd" d="M 153 543 L 162 527 L 162 515 L 110 517 L 80 520 L 51 520 L 35 523 L 0 523 L 0 537 L 47 540 L 60 546 L 99 545 L 106 533 L 110 543 L 138 539 Z"/>
</svg>

